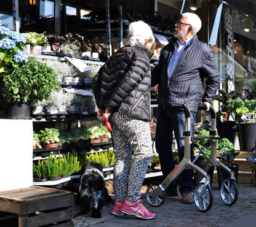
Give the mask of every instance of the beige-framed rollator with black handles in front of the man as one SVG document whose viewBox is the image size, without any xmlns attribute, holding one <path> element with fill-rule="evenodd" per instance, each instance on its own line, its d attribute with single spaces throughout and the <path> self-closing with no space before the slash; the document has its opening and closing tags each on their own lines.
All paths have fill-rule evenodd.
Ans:
<svg viewBox="0 0 256 227">
<path fill-rule="evenodd" d="M 207 174 L 210 167 L 212 166 L 220 166 L 226 171 L 230 173 L 231 179 L 225 179 L 222 183 L 221 187 L 221 196 L 223 202 L 225 204 L 231 205 L 236 202 L 238 198 L 238 188 L 236 186 L 236 180 L 234 179 L 234 172 L 231 171 L 227 166 L 220 163 L 217 160 L 216 156 L 216 148 L 217 148 L 217 137 L 216 133 L 216 114 L 215 110 L 211 107 L 210 114 L 212 118 L 212 131 L 210 132 L 210 137 L 191 137 L 190 132 L 190 110 L 186 107 L 185 104 L 183 105 L 172 105 L 174 109 L 183 109 L 185 112 L 185 132 L 183 133 L 183 137 L 181 139 L 185 140 L 185 147 L 184 147 L 184 156 L 182 161 L 177 164 L 177 166 L 170 172 L 169 175 L 163 180 L 162 183 L 158 184 L 156 182 L 150 183 L 146 190 L 146 200 L 151 206 L 161 206 L 165 199 L 166 199 L 166 188 L 169 187 L 170 183 L 172 183 L 178 175 L 182 173 L 182 171 L 186 168 L 192 168 L 197 173 L 194 179 L 194 183 L 196 183 L 196 187 L 194 189 L 194 204 L 201 212 L 206 212 L 210 210 L 212 204 L 214 202 L 214 195 L 212 193 L 212 188 L 210 187 L 210 175 Z M 199 107 L 201 110 L 206 110 L 206 107 Z M 197 166 L 191 162 L 191 144 L 195 144 L 193 140 L 198 139 L 211 139 L 212 142 L 209 142 L 211 145 L 211 155 L 210 159 L 207 159 L 207 164 L 203 166 L 203 168 Z M 204 154 L 203 150 L 200 151 Z M 202 182 L 204 181 L 204 182 Z M 230 196 L 230 191 L 234 189 L 234 198 Z M 232 193 L 233 194 L 233 193 Z M 231 199 L 233 198 L 233 199 Z"/>
</svg>

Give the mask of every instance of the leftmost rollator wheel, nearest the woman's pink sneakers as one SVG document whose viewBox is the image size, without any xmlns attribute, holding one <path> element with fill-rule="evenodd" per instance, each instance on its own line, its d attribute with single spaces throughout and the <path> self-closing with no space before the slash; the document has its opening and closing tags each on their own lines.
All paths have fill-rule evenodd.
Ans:
<svg viewBox="0 0 256 227">
<path fill-rule="evenodd" d="M 150 183 L 146 189 L 146 201 L 148 201 L 148 203 L 153 207 L 161 206 L 166 200 L 166 191 L 162 191 L 157 198 L 152 197 L 152 193 L 154 190 L 156 190 L 156 188 L 158 188 L 158 185 L 158 182 L 153 182 Z"/>
</svg>

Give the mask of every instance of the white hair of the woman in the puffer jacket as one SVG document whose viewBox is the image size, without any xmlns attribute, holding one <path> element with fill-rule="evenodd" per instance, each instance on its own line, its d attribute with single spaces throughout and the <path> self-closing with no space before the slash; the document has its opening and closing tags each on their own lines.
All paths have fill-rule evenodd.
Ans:
<svg viewBox="0 0 256 227">
<path fill-rule="evenodd" d="M 151 39 L 154 42 L 154 35 L 150 26 L 142 20 L 130 23 L 128 36 L 129 39 L 126 45 L 144 44 L 147 39 Z"/>
</svg>

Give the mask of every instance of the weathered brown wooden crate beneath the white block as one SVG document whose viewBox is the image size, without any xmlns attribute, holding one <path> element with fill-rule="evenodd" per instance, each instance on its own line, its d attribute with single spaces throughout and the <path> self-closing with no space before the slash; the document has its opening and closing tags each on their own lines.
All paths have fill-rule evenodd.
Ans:
<svg viewBox="0 0 256 227">
<path fill-rule="evenodd" d="M 18 215 L 18 227 L 72 226 L 74 194 L 28 187 L 0 192 L 0 211 Z"/>
</svg>

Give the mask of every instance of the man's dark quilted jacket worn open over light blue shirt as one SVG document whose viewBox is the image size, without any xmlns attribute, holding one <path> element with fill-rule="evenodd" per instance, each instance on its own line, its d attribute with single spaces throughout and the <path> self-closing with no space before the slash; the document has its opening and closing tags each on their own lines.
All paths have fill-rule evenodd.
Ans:
<svg viewBox="0 0 256 227">
<path fill-rule="evenodd" d="M 215 63 L 212 50 L 207 44 L 193 37 L 190 45 L 185 47 L 180 61 L 168 82 L 168 64 L 177 45 L 172 40 L 163 48 L 158 66 L 152 72 L 152 87 L 158 84 L 158 104 L 185 104 L 190 111 L 196 112 L 201 98 L 202 83 L 206 78 L 206 89 L 202 101 L 212 103 L 220 83 L 220 73 Z"/>
</svg>

